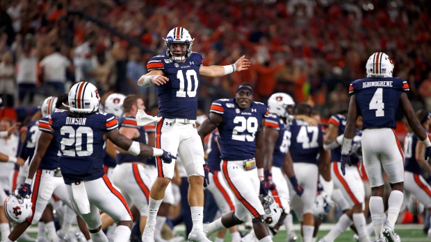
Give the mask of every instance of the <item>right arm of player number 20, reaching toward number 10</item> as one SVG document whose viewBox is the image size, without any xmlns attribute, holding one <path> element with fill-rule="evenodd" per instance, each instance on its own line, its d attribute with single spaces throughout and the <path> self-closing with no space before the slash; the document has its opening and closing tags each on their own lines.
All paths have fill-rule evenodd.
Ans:
<svg viewBox="0 0 431 242">
<path fill-rule="evenodd" d="M 163 154 L 163 150 L 162 154 L 158 154 L 157 151 L 160 151 L 160 149 L 151 148 L 145 144 L 132 141 L 131 139 L 120 134 L 117 129 L 106 132 L 105 135 L 109 140 L 113 142 L 113 144 L 115 144 L 115 146 L 118 146 L 123 150 L 127 150 L 127 152 L 131 153 L 132 155 L 138 155 L 141 157 L 153 157 L 161 156 Z M 156 151 L 156 154 L 154 154 L 154 151 Z"/>
</svg>

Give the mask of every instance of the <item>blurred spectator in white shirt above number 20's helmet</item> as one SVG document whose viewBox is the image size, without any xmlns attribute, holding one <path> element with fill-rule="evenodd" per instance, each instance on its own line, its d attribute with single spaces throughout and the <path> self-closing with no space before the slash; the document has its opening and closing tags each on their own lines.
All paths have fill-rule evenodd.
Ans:
<svg viewBox="0 0 431 242">
<path fill-rule="evenodd" d="M 65 93 L 66 69 L 72 69 L 72 62 L 60 53 L 56 44 L 49 46 L 49 55 L 40 61 L 40 75 L 44 84 L 53 87 L 58 96 Z"/>
</svg>

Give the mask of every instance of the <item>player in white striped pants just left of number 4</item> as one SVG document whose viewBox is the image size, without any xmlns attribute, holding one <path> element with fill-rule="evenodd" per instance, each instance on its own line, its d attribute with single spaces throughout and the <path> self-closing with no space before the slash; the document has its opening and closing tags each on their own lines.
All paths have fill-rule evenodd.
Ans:
<svg viewBox="0 0 431 242">
<path fill-rule="evenodd" d="M 325 235 L 320 242 L 332 242 L 342 232 L 344 232 L 352 222 L 355 224 L 359 241 L 370 241 L 366 231 L 366 221 L 362 205 L 364 205 L 365 189 L 364 182 L 362 182 L 361 175 L 357 168 L 359 159 L 354 152 L 350 152 L 350 160 L 354 166 L 347 167 L 348 176 L 341 175 L 341 144 L 343 143 L 343 133 L 345 123 L 347 121 L 346 115 L 348 111 L 345 110 L 339 114 L 332 115 L 329 121 L 329 127 L 326 130 L 324 148 L 331 150 L 331 175 L 334 178 L 334 191 L 332 193 L 332 200 L 344 211 L 344 214 L 339 218 L 335 227 Z M 357 127 L 361 127 L 361 119 L 357 121 Z M 361 134 L 358 128 L 355 130 L 355 138 L 353 142 L 361 141 Z M 341 196 L 339 191 L 341 191 Z"/>
</svg>

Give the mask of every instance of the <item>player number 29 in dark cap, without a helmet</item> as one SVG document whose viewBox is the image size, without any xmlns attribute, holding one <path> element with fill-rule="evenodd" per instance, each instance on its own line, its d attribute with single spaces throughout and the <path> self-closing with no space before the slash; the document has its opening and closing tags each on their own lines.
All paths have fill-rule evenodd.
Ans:
<svg viewBox="0 0 431 242">
<path fill-rule="evenodd" d="M 202 144 L 204 137 L 218 128 L 218 144 L 222 153 L 220 169 L 235 195 L 235 211 L 229 211 L 210 223 L 204 230 L 206 236 L 247 222 L 251 216 L 257 239 L 272 241 L 259 199 L 259 193 L 268 196 L 263 174 L 262 132 L 267 116 L 266 105 L 254 102 L 252 87 L 243 83 L 236 89 L 234 99 L 214 101 L 209 116 L 198 128 Z"/>
</svg>

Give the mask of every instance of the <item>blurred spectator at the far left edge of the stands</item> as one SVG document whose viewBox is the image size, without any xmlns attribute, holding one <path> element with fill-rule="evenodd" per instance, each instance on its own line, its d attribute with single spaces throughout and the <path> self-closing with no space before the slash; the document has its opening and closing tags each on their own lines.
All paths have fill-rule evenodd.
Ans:
<svg viewBox="0 0 431 242">
<path fill-rule="evenodd" d="M 4 53 L 1 57 L 0 94 L 4 106 L 13 107 L 15 105 L 15 69 L 10 52 Z"/>
</svg>

